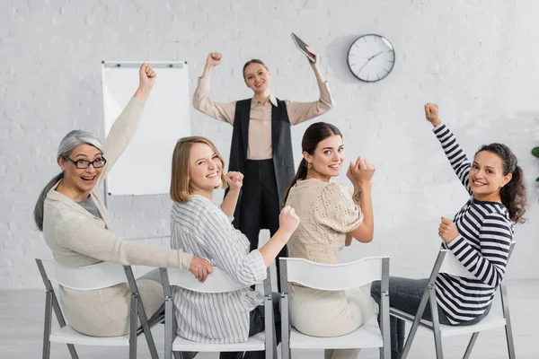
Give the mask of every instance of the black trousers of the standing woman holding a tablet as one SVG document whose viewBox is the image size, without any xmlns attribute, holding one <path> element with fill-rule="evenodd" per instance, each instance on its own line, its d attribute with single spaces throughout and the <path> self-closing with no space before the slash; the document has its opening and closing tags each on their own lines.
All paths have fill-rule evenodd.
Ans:
<svg viewBox="0 0 539 359">
<path fill-rule="evenodd" d="M 270 230 L 271 236 L 278 230 L 281 198 L 278 197 L 273 160 L 247 160 L 243 175 L 239 230 L 251 242 L 251 250 L 256 250 L 261 229 Z M 281 286 L 278 258 L 281 257 L 288 257 L 286 246 L 278 253 L 276 262 L 279 293 Z"/>
</svg>

